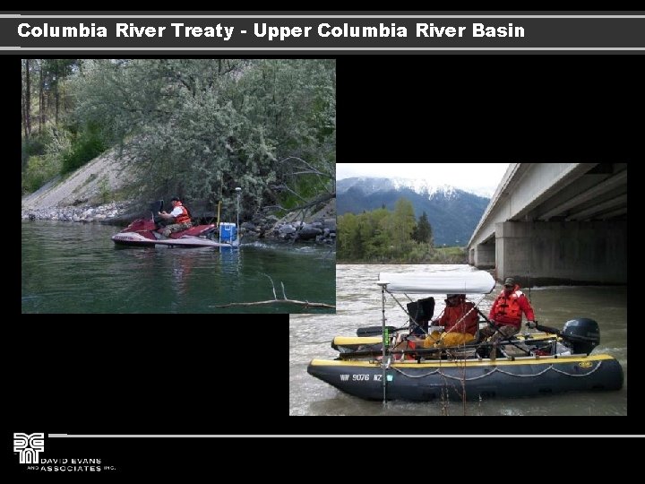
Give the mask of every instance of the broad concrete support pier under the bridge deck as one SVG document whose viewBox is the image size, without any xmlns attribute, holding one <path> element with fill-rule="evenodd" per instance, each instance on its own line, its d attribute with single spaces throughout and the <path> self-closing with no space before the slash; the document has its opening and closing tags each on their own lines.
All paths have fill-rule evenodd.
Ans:
<svg viewBox="0 0 645 484">
<path fill-rule="evenodd" d="M 495 259 L 522 286 L 626 284 L 627 221 L 497 223 Z"/>
</svg>

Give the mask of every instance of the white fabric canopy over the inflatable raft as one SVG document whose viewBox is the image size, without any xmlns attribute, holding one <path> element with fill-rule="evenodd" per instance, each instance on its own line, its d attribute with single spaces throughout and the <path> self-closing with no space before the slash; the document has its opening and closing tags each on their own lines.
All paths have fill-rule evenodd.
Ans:
<svg viewBox="0 0 645 484">
<path fill-rule="evenodd" d="M 486 271 L 379 272 L 379 286 L 410 294 L 488 294 L 495 279 Z"/>
</svg>

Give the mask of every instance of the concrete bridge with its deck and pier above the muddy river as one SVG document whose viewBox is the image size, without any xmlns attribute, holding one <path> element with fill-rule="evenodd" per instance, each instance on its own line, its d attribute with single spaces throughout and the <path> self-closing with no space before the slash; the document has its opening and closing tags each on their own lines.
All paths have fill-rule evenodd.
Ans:
<svg viewBox="0 0 645 484">
<path fill-rule="evenodd" d="M 627 163 L 514 163 L 469 264 L 522 286 L 627 283 Z"/>
</svg>

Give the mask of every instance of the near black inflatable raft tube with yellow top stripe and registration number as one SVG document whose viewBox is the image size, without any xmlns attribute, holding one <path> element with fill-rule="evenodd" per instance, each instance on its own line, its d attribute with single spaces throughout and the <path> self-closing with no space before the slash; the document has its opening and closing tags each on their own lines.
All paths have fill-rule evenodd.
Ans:
<svg viewBox="0 0 645 484">
<path fill-rule="evenodd" d="M 366 400 L 383 400 L 379 362 L 313 359 L 307 372 Z M 432 402 L 620 390 L 623 368 L 609 355 L 397 362 L 385 370 L 387 400 Z"/>
</svg>

